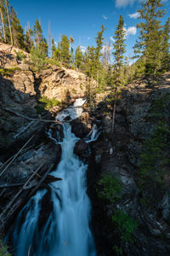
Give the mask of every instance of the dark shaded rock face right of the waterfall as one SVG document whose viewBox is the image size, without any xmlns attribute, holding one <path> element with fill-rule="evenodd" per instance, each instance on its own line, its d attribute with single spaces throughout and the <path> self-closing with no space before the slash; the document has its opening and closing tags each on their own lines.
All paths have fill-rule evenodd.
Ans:
<svg viewBox="0 0 170 256">
<path fill-rule="evenodd" d="M 124 255 L 168 255 L 170 253 L 169 233 L 169 185 L 165 192 L 150 195 L 156 207 L 144 205 L 143 196 L 148 193 L 139 189 L 139 164 L 146 138 L 150 138 L 159 121 L 169 124 L 170 113 L 170 73 L 156 81 L 137 80 L 127 84 L 122 98 L 116 106 L 114 136 L 111 137 L 111 108 L 100 102 L 95 110 L 97 119 L 101 119 L 103 135 L 92 145 L 94 161 L 91 161 L 88 173 L 95 172 L 97 180 L 101 174 L 111 173 L 122 181 L 121 199 L 116 203 L 99 200 L 93 188 L 88 186 L 93 202 L 94 238 L 98 255 L 113 255 L 113 247 L 119 245 L 121 237 L 117 227 L 111 222 L 115 208 L 137 220 L 138 229 L 133 233 L 135 242 L 123 242 Z M 162 103 L 163 102 L 163 103 Z M 164 106 L 164 107 L 162 107 Z M 162 110 L 161 110 L 162 109 Z M 163 114 L 163 117 L 162 115 Z M 95 163 L 95 164 L 94 164 Z M 165 166 L 168 174 L 168 166 Z M 168 178 L 167 178 L 168 179 Z M 94 178 L 94 183 L 96 180 Z M 145 193 L 145 194 L 144 194 Z M 146 194 L 147 195 L 147 194 Z M 154 205 L 154 203 L 153 203 Z"/>
</svg>

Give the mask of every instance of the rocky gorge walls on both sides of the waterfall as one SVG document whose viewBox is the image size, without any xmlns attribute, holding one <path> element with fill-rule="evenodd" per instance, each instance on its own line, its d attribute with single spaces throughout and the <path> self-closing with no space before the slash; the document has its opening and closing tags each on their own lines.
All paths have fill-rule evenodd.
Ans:
<svg viewBox="0 0 170 256">
<path fill-rule="evenodd" d="M 32 172 L 36 172 L 33 177 L 36 187 L 48 167 L 50 166 L 51 171 L 58 165 L 61 148 L 59 144 L 56 145 L 55 136 L 58 133 L 62 138 L 63 131 L 59 122 L 55 122 L 55 116 L 76 98 L 86 96 L 87 86 L 87 78 L 83 73 L 56 66 L 48 66 L 37 73 L 29 64 L 14 61 L 15 58 L 14 54 L 9 59 L 6 57 L 6 73 L 0 75 L 1 217 L 6 215 L 4 209 L 13 195 L 20 192 L 20 185 L 9 188 L 4 187 L 5 184 L 24 184 L 31 174 L 35 174 Z M 9 70 L 10 73 L 7 72 Z M 44 102 L 39 102 L 40 96 L 55 99 L 59 103 L 45 109 Z M 149 189 L 152 177 L 147 177 L 146 182 L 144 179 L 144 183 L 141 181 L 144 174 L 141 175 L 140 165 L 146 139 L 151 144 L 151 137 L 160 121 L 166 127 L 170 124 L 170 73 L 157 79 L 139 79 L 127 84 L 116 104 L 113 134 L 112 102 L 109 99 L 106 93 L 97 96 L 95 108 L 85 105 L 82 116 L 71 121 L 72 132 L 80 138 L 74 152 L 88 162 L 88 196 L 92 201 L 91 228 L 97 255 L 169 255 L 169 162 L 163 164 L 163 189 L 159 186 Z M 101 133 L 98 141 L 88 146 L 84 137 L 92 131 L 94 124 Z M 167 143 L 161 154 L 168 157 L 168 132 L 163 137 L 166 137 Z M 26 147 L 20 151 L 25 144 Z M 147 154 L 149 155 L 148 152 Z M 9 160 L 5 164 L 13 155 L 15 158 L 12 158 L 12 162 Z M 114 201 L 99 196 L 105 189 L 104 185 L 99 185 L 99 180 L 104 175 L 116 177 L 117 183 L 120 183 L 121 189 L 119 192 L 116 190 L 118 194 Z M 45 179 L 41 185 L 48 188 Z M 12 215 L 5 216 L 7 219 L 1 218 L 2 230 L 3 225 L 8 227 L 13 223 L 20 207 L 26 204 L 23 199 L 29 198 L 31 189 L 28 189 L 28 194 L 26 189 L 20 193 L 16 200 L 20 203 L 14 208 Z M 50 209 L 50 205 L 48 208 Z M 113 224 L 111 221 L 115 209 L 127 212 L 129 219 L 137 223 L 132 238 L 123 240 L 124 231 L 120 230 L 116 222 Z"/>
</svg>

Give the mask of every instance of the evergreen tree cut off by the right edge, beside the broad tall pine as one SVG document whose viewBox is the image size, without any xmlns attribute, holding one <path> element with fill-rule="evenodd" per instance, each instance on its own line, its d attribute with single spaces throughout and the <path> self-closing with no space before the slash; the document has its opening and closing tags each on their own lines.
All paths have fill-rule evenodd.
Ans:
<svg viewBox="0 0 170 256">
<path fill-rule="evenodd" d="M 168 71 L 170 68 L 169 60 L 169 40 L 170 40 L 170 18 L 167 19 L 165 26 L 163 27 L 163 40 L 162 40 L 162 61 L 161 66 L 164 71 Z"/>
</svg>

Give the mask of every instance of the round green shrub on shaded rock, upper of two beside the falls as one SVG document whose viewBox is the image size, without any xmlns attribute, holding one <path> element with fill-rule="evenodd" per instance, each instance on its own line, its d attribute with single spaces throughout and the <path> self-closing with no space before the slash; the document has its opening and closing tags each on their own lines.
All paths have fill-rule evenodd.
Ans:
<svg viewBox="0 0 170 256">
<path fill-rule="evenodd" d="M 121 198 L 122 181 L 112 174 L 104 174 L 99 180 L 96 192 L 100 199 L 106 199 L 114 203 Z"/>
</svg>

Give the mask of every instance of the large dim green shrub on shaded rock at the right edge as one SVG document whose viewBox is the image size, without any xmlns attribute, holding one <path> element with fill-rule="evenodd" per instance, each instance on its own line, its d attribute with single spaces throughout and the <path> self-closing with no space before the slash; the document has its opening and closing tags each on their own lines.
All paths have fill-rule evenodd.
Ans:
<svg viewBox="0 0 170 256">
<path fill-rule="evenodd" d="M 138 185 L 144 193 L 144 202 L 148 207 L 156 207 L 165 192 L 164 177 L 170 163 L 170 130 L 168 125 L 156 126 L 151 137 L 144 143 L 139 166 Z"/>
</svg>

